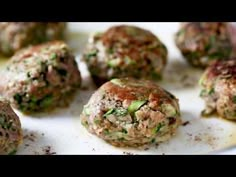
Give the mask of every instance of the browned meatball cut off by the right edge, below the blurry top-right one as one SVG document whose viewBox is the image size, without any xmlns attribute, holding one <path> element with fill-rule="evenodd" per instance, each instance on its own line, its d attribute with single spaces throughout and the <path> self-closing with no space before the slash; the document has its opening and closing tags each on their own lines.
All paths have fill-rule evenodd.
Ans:
<svg viewBox="0 0 236 177">
<path fill-rule="evenodd" d="M 203 115 L 218 113 L 236 120 L 236 60 L 216 61 L 200 79 L 200 97 L 205 100 Z"/>
</svg>

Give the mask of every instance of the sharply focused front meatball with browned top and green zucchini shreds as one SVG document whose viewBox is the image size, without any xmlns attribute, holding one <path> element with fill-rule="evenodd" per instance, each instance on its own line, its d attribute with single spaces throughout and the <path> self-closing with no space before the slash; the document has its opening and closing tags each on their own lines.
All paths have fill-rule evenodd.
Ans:
<svg viewBox="0 0 236 177">
<path fill-rule="evenodd" d="M 116 78 L 92 95 L 81 122 L 114 146 L 138 147 L 168 140 L 181 119 L 178 99 L 154 82 Z"/>
</svg>

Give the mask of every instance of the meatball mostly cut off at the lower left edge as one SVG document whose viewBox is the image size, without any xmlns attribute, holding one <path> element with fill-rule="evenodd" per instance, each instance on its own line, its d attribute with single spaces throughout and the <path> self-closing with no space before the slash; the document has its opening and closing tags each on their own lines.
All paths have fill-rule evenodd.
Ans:
<svg viewBox="0 0 236 177">
<path fill-rule="evenodd" d="M 22 142 L 22 129 L 19 117 L 10 104 L 0 99 L 0 154 L 14 154 Z"/>
</svg>

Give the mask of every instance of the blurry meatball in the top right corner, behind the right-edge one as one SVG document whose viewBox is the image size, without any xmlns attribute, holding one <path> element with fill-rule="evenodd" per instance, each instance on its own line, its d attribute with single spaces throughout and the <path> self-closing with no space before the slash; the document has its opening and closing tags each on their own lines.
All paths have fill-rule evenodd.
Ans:
<svg viewBox="0 0 236 177">
<path fill-rule="evenodd" d="M 175 43 L 187 61 L 205 68 L 214 60 L 225 60 L 233 51 L 229 23 L 182 23 Z"/>
</svg>

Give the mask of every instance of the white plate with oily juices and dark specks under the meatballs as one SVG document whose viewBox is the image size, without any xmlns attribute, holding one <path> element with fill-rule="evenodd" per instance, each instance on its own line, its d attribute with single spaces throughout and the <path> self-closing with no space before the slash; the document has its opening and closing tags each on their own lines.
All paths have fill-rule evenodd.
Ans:
<svg viewBox="0 0 236 177">
<path fill-rule="evenodd" d="M 69 23 L 69 44 L 74 49 L 79 62 L 88 35 L 103 31 L 121 23 Z M 124 23 L 122 23 L 124 24 Z M 82 106 L 95 91 L 84 63 L 79 62 L 83 85 L 89 90 L 81 90 L 65 109 L 35 116 L 25 116 L 16 110 L 24 130 L 24 143 L 17 154 L 234 154 L 235 148 L 224 148 L 236 144 L 236 124 L 220 118 L 202 118 L 204 108 L 199 98 L 198 79 L 201 70 L 193 69 L 182 58 L 174 44 L 174 33 L 178 23 L 132 23 L 156 34 L 167 46 L 169 62 L 160 85 L 179 98 L 182 119 L 189 121 L 180 126 L 176 136 L 168 142 L 149 149 L 127 149 L 113 147 L 87 132 L 80 124 Z M 183 81 L 184 80 L 184 81 Z M 223 151 L 222 151 L 223 150 Z"/>
</svg>

